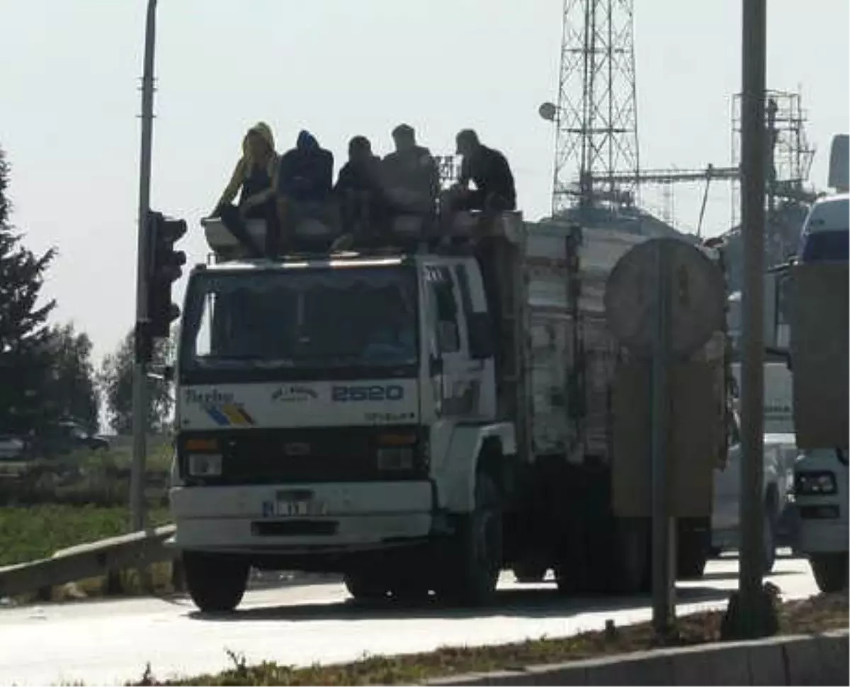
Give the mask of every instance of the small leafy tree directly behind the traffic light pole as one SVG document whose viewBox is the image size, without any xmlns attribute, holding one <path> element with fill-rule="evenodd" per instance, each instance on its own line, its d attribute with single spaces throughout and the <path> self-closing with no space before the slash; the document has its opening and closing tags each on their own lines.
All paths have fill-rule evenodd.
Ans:
<svg viewBox="0 0 850 687">
<path fill-rule="evenodd" d="M 133 339 L 131 330 L 118 344 L 115 353 L 105 357 L 99 374 L 108 421 L 116 434 L 133 432 Z M 153 364 L 166 363 L 170 359 L 171 350 L 169 340 L 158 341 L 154 347 Z M 167 429 L 173 408 L 170 387 L 171 384 L 162 380 L 150 380 L 148 383 L 149 433 L 157 434 Z"/>
</svg>

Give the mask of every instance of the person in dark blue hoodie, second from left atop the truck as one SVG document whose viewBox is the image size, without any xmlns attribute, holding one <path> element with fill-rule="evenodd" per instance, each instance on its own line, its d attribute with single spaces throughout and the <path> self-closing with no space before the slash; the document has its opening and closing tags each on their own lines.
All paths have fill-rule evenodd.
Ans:
<svg viewBox="0 0 850 687">
<path fill-rule="evenodd" d="M 332 185 L 333 154 L 322 148 L 312 133 L 302 130 L 295 147 L 280 157 L 278 167 L 278 213 L 286 239 L 292 237 L 304 208 L 320 207 L 328 200 Z"/>
</svg>

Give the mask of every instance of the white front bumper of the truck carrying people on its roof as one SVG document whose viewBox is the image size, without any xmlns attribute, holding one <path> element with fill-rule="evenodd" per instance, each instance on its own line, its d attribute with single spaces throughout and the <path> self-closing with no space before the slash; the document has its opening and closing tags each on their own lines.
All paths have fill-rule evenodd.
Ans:
<svg viewBox="0 0 850 687">
<path fill-rule="evenodd" d="M 280 516 L 278 491 L 312 492 L 320 515 Z M 328 554 L 416 542 L 434 524 L 430 482 L 174 487 L 175 548 L 234 554 Z"/>
</svg>

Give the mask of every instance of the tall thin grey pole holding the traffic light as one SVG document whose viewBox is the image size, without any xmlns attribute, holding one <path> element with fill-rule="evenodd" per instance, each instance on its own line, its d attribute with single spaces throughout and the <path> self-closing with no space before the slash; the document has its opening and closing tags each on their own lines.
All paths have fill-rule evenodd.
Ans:
<svg viewBox="0 0 850 687">
<path fill-rule="evenodd" d="M 148 418 L 147 368 L 139 356 L 139 335 L 148 320 L 148 273 L 150 267 L 150 158 L 154 119 L 154 47 L 156 43 L 156 0 L 148 0 L 144 28 L 144 72 L 142 74 L 142 141 L 139 156 L 139 241 L 136 267 L 136 356 L 133 364 L 133 466 L 130 473 L 131 529 L 143 530 L 144 467 Z"/>
</svg>

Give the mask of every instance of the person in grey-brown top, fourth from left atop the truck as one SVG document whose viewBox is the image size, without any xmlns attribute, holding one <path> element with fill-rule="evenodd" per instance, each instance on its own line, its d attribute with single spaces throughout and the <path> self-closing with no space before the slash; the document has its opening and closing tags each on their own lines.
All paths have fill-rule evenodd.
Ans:
<svg viewBox="0 0 850 687">
<path fill-rule="evenodd" d="M 382 161 L 388 196 L 398 213 L 431 214 L 439 193 L 439 170 L 431 151 L 416 144 L 416 131 L 399 124 L 393 129 L 395 151 Z"/>
</svg>

